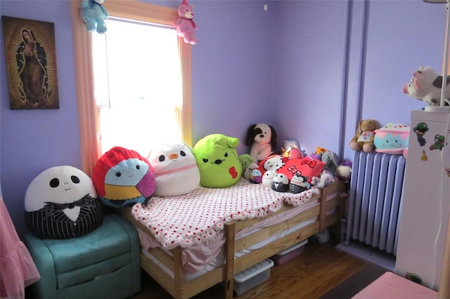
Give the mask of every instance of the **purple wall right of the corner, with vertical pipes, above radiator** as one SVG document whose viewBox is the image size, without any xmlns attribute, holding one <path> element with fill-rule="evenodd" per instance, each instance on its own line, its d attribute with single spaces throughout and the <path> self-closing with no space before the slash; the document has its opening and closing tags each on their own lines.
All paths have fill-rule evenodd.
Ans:
<svg viewBox="0 0 450 299">
<path fill-rule="evenodd" d="M 445 5 L 276 1 L 276 8 L 272 107 L 280 141 L 352 159 L 359 119 L 409 124 L 411 110 L 423 107 L 402 88 L 420 65 L 441 72 Z"/>
</svg>

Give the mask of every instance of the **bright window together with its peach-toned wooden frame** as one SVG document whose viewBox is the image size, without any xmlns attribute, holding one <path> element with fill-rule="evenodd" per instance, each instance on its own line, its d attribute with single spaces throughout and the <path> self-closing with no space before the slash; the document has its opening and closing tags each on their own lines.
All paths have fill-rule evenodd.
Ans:
<svg viewBox="0 0 450 299">
<path fill-rule="evenodd" d="M 185 44 L 181 38 L 176 36 L 175 39 L 172 39 L 172 43 L 174 41 L 177 43 L 176 53 L 172 53 L 171 57 L 178 55 L 179 60 L 177 61 L 179 61 L 179 65 L 170 65 L 167 61 L 162 62 L 166 63 L 165 67 L 154 65 L 153 78 L 144 79 L 139 75 L 131 77 L 130 74 L 137 74 L 136 68 L 133 69 L 132 67 L 143 65 L 143 56 L 139 55 L 142 49 L 139 49 L 136 43 L 129 47 L 125 47 L 128 43 L 122 43 L 120 46 L 122 59 L 117 64 L 115 63 L 114 66 L 122 69 L 127 67 L 127 69 L 122 72 L 121 78 L 115 78 L 111 72 L 109 72 L 108 78 L 105 78 L 104 75 L 94 72 L 93 66 L 93 61 L 96 62 L 96 65 L 101 65 L 102 61 L 104 63 L 105 60 L 100 61 L 91 51 L 86 51 L 86 49 L 91 49 L 93 44 L 103 44 L 104 46 L 105 36 L 96 36 L 100 34 L 87 32 L 86 25 L 79 15 L 79 2 L 71 1 L 71 6 L 82 170 L 91 175 L 92 168 L 94 168 L 98 157 L 106 150 L 109 150 L 111 145 L 117 145 L 115 142 L 109 142 L 108 140 L 111 140 L 111 138 L 104 134 L 113 132 L 113 134 L 117 133 L 117 135 L 120 135 L 120 123 L 122 122 L 142 121 L 132 125 L 135 126 L 134 131 L 130 133 L 133 137 L 129 138 L 128 141 L 124 141 L 127 145 L 121 145 L 136 150 L 143 156 L 148 154 L 150 147 L 148 145 L 135 145 L 133 140 L 148 140 L 151 143 L 152 140 L 160 140 L 167 135 L 179 133 L 181 135 L 180 138 L 191 145 L 191 45 Z M 137 26 L 142 30 L 151 30 L 154 34 L 160 34 L 160 36 L 176 35 L 172 29 L 174 20 L 178 18 L 174 8 L 155 6 L 139 1 L 105 1 L 103 6 L 105 6 L 110 15 L 110 22 L 107 24 L 108 33 L 106 34 L 106 36 L 110 37 L 106 38 L 108 40 L 106 44 L 114 43 L 114 40 L 117 39 L 117 37 L 113 38 L 115 34 L 111 33 L 112 31 L 117 31 L 117 24 L 121 24 L 121 26 Z M 124 22 L 125 20 L 127 22 Z M 167 32 L 169 33 L 167 34 Z M 144 37 L 146 36 L 144 33 L 141 34 Z M 174 36 L 172 35 L 172 37 Z M 103 41 L 101 41 L 102 39 Z M 170 38 L 165 42 L 170 43 Z M 158 46 L 162 45 L 160 43 L 162 43 L 162 40 L 158 41 Z M 139 45 L 141 44 L 139 42 Z M 119 46 L 113 46 L 113 48 L 119 48 Z M 133 53 L 124 55 L 124 48 L 132 49 Z M 108 51 L 110 51 L 109 49 Z M 157 49 L 158 47 L 153 45 L 153 52 L 150 55 L 158 55 L 155 52 L 158 51 Z M 171 61 L 175 60 L 172 59 Z M 150 63 L 155 64 L 157 62 L 153 61 Z M 108 67 L 110 65 L 109 63 Z M 101 69 L 101 67 L 96 67 L 95 69 Z M 168 69 L 181 69 L 179 81 L 171 77 L 171 84 L 173 86 L 181 86 L 181 88 L 168 88 L 160 83 L 169 77 L 169 74 L 167 74 Z M 114 73 L 120 74 L 121 72 L 117 71 Z M 94 78 L 96 79 L 94 80 Z M 100 80 L 102 78 L 107 80 Z M 150 88 L 150 83 L 153 83 L 155 78 L 162 80 L 158 81 L 158 84 L 153 85 L 153 88 Z M 123 84 L 119 85 L 119 81 L 122 81 Z M 130 83 L 131 81 L 132 83 Z M 129 88 L 130 84 L 141 88 Z M 105 91 L 105 86 L 108 85 L 110 86 L 109 94 Z M 104 96 L 107 94 L 108 96 Z M 124 101 L 124 98 L 127 100 Z M 161 110 L 158 112 L 155 109 Z M 126 112 L 121 115 L 122 117 L 125 115 L 129 116 L 129 119 L 119 119 L 117 121 L 117 111 L 121 113 Z M 146 115 L 139 116 L 141 112 Z M 169 115 L 168 119 L 167 117 L 161 119 L 161 116 L 164 115 Z M 119 126 L 116 126 L 116 124 L 119 124 Z M 105 127 L 101 128 L 101 126 Z M 124 127 L 122 126 L 122 128 Z M 124 128 L 122 131 L 127 132 L 129 130 Z M 113 139 L 116 137 L 113 136 Z"/>
</svg>

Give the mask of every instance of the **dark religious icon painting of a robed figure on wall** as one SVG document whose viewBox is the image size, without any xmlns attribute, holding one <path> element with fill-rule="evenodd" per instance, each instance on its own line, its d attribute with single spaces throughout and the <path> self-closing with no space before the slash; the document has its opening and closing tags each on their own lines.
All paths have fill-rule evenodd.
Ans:
<svg viewBox="0 0 450 299">
<path fill-rule="evenodd" d="M 59 109 L 55 25 L 2 16 L 11 109 Z"/>
</svg>

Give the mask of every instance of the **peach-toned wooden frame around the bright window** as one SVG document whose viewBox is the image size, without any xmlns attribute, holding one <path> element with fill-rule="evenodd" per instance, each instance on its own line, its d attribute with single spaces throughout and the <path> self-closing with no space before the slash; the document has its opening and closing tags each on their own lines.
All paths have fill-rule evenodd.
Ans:
<svg viewBox="0 0 450 299">
<path fill-rule="evenodd" d="M 94 75 L 92 72 L 91 34 L 80 15 L 81 1 L 70 1 L 72 9 L 73 44 L 75 54 L 75 79 L 77 89 L 77 109 L 79 122 L 79 142 L 82 171 L 92 175 L 96 161 L 100 157 L 97 145 L 97 112 L 94 98 Z M 176 9 L 140 1 L 126 0 L 103 2 L 108 14 L 114 18 L 150 22 L 172 26 L 178 18 Z M 179 112 L 181 138 L 192 145 L 192 108 L 191 108 L 191 44 L 184 43 L 179 37 L 183 104 Z"/>
</svg>

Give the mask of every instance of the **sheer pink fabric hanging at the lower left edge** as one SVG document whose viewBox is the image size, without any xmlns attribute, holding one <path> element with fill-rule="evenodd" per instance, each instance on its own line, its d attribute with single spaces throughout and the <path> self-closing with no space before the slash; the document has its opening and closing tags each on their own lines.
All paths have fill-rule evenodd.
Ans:
<svg viewBox="0 0 450 299">
<path fill-rule="evenodd" d="M 25 287 L 41 277 L 34 261 L 20 241 L 6 205 L 0 197 L 0 296 L 25 298 Z"/>
</svg>

